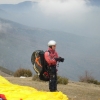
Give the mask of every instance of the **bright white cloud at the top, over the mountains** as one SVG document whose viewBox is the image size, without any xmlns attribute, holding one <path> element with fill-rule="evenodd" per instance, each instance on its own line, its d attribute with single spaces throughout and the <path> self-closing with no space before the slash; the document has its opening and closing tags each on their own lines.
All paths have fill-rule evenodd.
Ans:
<svg viewBox="0 0 100 100">
<path fill-rule="evenodd" d="M 68 14 L 85 12 L 85 3 L 84 0 L 42 0 L 40 1 L 39 6 L 47 15 L 54 16 L 57 14 L 63 16 L 63 14 L 65 14 L 68 16 Z"/>
</svg>

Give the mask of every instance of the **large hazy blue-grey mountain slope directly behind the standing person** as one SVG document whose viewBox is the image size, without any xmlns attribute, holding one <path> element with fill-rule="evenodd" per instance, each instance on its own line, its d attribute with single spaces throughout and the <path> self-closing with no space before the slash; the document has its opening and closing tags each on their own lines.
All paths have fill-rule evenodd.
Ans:
<svg viewBox="0 0 100 100">
<path fill-rule="evenodd" d="M 57 42 L 59 56 L 64 57 L 58 74 L 78 80 L 87 70 L 100 80 L 100 40 L 61 31 L 28 27 L 0 18 L 0 66 L 15 71 L 20 67 L 33 71 L 34 50 L 47 50 L 47 43 Z M 33 71 L 33 73 L 35 73 Z"/>
</svg>

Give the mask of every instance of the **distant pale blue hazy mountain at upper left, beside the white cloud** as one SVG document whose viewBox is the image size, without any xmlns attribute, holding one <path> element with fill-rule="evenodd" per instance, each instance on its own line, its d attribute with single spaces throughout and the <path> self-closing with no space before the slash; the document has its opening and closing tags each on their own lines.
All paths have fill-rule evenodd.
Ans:
<svg viewBox="0 0 100 100">
<path fill-rule="evenodd" d="M 36 27 L 37 23 L 41 26 L 40 21 L 43 20 L 43 16 L 38 8 L 38 2 L 25 1 L 18 4 L 0 4 L 0 9 L 7 12 L 7 14 L 0 15 L 1 18 L 31 27 Z M 41 16 L 41 18 L 38 19 L 37 16 Z"/>
</svg>

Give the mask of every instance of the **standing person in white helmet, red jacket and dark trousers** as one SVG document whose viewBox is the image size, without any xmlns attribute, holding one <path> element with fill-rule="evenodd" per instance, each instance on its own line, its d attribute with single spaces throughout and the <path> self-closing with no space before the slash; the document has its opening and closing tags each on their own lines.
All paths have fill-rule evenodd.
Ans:
<svg viewBox="0 0 100 100">
<path fill-rule="evenodd" d="M 57 91 L 57 58 L 58 53 L 56 52 L 56 42 L 50 40 L 48 42 L 48 50 L 45 52 L 44 57 L 48 63 L 48 72 L 49 72 L 49 90 L 51 92 Z"/>
</svg>

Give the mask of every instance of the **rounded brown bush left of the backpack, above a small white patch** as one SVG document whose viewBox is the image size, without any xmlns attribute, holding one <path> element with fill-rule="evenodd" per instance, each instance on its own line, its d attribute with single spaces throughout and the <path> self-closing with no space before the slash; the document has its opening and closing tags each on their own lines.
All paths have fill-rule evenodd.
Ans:
<svg viewBox="0 0 100 100">
<path fill-rule="evenodd" d="M 25 77 L 31 77 L 32 72 L 29 69 L 19 68 L 15 73 L 15 77 L 25 76 Z"/>
</svg>

